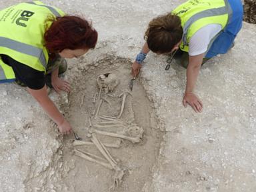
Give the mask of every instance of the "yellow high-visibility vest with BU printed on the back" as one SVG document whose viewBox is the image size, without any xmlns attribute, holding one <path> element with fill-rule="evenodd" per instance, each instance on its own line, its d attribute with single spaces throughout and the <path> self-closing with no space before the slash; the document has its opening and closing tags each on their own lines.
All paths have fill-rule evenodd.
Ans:
<svg viewBox="0 0 256 192">
<path fill-rule="evenodd" d="M 45 71 L 49 53 L 44 34 L 51 25 L 49 18 L 61 17 L 63 11 L 32 1 L 19 3 L 0 11 L 0 54 L 8 55 L 37 71 Z M 0 81 L 15 79 L 13 69 L 0 57 Z"/>
</svg>

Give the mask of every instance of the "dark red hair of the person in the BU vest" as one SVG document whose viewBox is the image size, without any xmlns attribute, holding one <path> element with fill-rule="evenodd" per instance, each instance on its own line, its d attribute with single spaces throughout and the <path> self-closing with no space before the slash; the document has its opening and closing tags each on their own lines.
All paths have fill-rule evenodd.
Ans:
<svg viewBox="0 0 256 192">
<path fill-rule="evenodd" d="M 77 16 L 57 17 L 45 32 L 45 47 L 49 53 L 63 49 L 91 49 L 97 43 L 98 33 L 91 24 Z"/>
</svg>

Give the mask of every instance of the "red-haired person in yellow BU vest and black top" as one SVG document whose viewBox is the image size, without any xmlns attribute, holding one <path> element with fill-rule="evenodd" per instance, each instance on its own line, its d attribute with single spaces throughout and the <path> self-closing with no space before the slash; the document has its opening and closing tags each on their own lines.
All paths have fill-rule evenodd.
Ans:
<svg viewBox="0 0 256 192">
<path fill-rule="evenodd" d="M 97 43 L 97 31 L 85 19 L 32 1 L 0 11 L 0 83 L 27 87 L 59 131 L 72 132 L 69 122 L 47 94 L 47 86 L 69 93 L 58 77 L 67 69 L 63 58 L 80 57 Z M 47 85 L 46 85 L 47 84 Z"/>
</svg>

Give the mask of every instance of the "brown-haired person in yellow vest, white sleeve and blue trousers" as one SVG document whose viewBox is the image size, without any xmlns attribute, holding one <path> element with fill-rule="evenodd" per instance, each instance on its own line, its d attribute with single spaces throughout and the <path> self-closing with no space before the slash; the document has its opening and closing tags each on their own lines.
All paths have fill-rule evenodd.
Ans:
<svg viewBox="0 0 256 192">
<path fill-rule="evenodd" d="M 187 68 L 187 85 L 183 105 L 187 103 L 201 112 L 203 103 L 193 93 L 199 69 L 205 61 L 224 54 L 233 47 L 233 41 L 243 21 L 240 0 L 189 0 L 171 13 L 153 19 L 145 32 L 141 52 L 132 67 L 136 77 L 149 51 L 157 54 L 181 55 L 181 65 Z"/>
</svg>

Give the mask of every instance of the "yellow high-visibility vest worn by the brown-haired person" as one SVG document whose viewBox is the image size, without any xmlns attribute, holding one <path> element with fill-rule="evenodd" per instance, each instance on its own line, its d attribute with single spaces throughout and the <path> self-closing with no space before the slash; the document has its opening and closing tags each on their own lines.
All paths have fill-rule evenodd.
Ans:
<svg viewBox="0 0 256 192">
<path fill-rule="evenodd" d="M 181 18 L 183 37 L 180 49 L 189 52 L 191 37 L 201 27 L 209 24 L 219 24 L 224 29 L 232 15 L 232 9 L 227 0 L 189 0 L 179 5 L 172 13 Z"/>
</svg>

